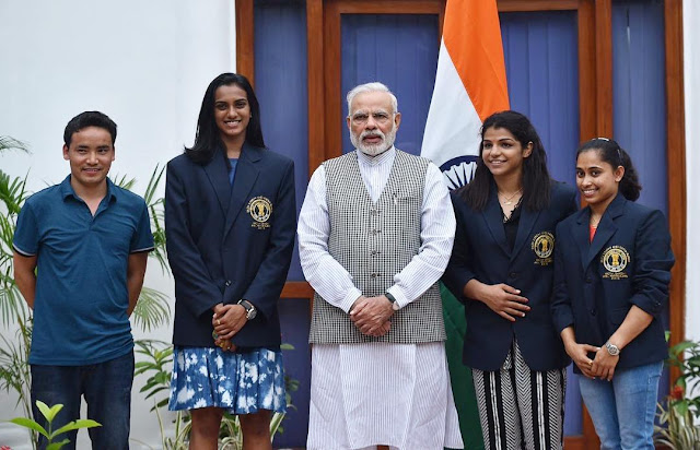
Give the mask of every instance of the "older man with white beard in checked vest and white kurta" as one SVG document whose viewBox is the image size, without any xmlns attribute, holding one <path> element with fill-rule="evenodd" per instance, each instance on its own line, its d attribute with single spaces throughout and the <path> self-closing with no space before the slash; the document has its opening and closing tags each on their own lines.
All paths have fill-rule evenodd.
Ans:
<svg viewBox="0 0 700 450">
<path fill-rule="evenodd" d="M 354 152 L 314 173 L 299 220 L 315 291 L 307 449 L 463 448 L 438 280 L 455 233 L 440 169 L 394 147 L 381 83 L 348 93 Z"/>
</svg>

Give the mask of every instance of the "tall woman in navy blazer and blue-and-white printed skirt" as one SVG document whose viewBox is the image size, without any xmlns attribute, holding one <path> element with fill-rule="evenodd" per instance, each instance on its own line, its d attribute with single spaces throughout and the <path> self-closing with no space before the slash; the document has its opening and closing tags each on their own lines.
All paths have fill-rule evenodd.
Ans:
<svg viewBox="0 0 700 450">
<path fill-rule="evenodd" d="M 271 449 L 283 412 L 277 301 L 294 233 L 294 165 L 265 149 L 248 81 L 207 88 L 191 149 L 167 165 L 165 233 L 175 277 L 171 410 L 190 410 L 190 449 L 217 448 L 224 411 L 246 448 Z"/>
</svg>

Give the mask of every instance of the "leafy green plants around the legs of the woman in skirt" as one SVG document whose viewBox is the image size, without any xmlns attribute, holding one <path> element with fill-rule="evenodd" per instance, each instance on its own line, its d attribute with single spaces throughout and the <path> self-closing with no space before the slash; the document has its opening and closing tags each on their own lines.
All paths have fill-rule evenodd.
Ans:
<svg viewBox="0 0 700 450">
<path fill-rule="evenodd" d="M 175 413 L 173 424 L 175 430 L 173 436 L 167 436 L 163 417 L 159 411 L 167 405 L 170 400 L 171 372 L 173 368 L 173 346 L 163 341 L 156 340 L 139 340 L 136 342 L 136 354 L 139 360 L 136 363 L 135 375 L 147 375 L 145 384 L 140 392 L 145 399 L 152 399 L 153 406 L 151 412 L 155 413 L 161 433 L 161 446 L 164 450 L 184 450 L 188 448 L 189 431 L 191 430 L 191 418 L 187 411 L 178 411 Z M 282 344 L 281 350 L 294 350 L 290 344 Z M 294 408 L 292 404 L 291 392 L 299 389 L 299 381 L 290 377 L 284 377 L 287 389 L 287 407 Z M 283 413 L 272 414 L 270 421 L 270 439 L 277 433 L 282 433 Z M 139 441 L 144 445 L 145 442 Z M 241 450 L 243 449 L 243 434 L 241 431 L 241 422 L 238 417 L 224 413 L 219 430 L 219 449 L 220 450 Z"/>
</svg>

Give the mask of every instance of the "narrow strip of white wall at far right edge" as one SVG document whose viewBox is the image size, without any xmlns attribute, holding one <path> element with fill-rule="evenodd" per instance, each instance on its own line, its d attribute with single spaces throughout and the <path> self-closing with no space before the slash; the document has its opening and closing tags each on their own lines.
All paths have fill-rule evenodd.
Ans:
<svg viewBox="0 0 700 450">
<path fill-rule="evenodd" d="M 700 340 L 700 2 L 682 2 L 684 85 L 686 96 L 686 198 L 688 211 L 686 247 L 686 338 Z"/>
</svg>

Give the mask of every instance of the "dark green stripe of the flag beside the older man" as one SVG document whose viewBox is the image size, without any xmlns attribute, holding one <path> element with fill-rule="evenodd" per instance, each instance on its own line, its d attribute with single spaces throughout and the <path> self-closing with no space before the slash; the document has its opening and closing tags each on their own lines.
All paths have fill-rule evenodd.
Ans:
<svg viewBox="0 0 700 450">
<path fill-rule="evenodd" d="M 471 369 L 462 363 L 464 335 L 467 331 L 467 320 L 464 316 L 464 305 L 440 283 L 442 296 L 442 311 L 445 318 L 447 341 L 447 365 L 450 366 L 450 381 L 455 398 L 457 414 L 459 415 L 459 430 L 466 450 L 483 450 L 483 437 L 479 422 L 479 408 L 471 382 Z"/>
</svg>

